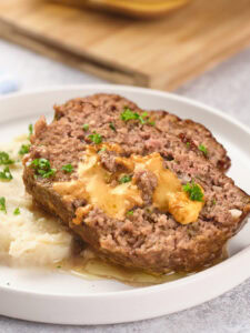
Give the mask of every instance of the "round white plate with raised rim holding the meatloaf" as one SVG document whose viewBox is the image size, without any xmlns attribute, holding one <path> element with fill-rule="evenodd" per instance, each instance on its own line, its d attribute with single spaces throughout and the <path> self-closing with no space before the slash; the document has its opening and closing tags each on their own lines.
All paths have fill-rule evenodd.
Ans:
<svg viewBox="0 0 250 333">
<path fill-rule="evenodd" d="M 0 140 L 27 132 L 52 105 L 97 92 L 122 94 L 144 109 L 166 109 L 206 124 L 232 159 L 229 175 L 250 192 L 250 131 L 201 103 L 149 89 L 78 85 L 18 93 L 0 99 Z M 0 268 L 0 314 L 60 324 L 110 324 L 150 319 L 211 300 L 250 276 L 250 226 L 229 244 L 224 262 L 179 281 L 132 287 L 109 280 L 87 281 L 68 274 Z"/>
</svg>

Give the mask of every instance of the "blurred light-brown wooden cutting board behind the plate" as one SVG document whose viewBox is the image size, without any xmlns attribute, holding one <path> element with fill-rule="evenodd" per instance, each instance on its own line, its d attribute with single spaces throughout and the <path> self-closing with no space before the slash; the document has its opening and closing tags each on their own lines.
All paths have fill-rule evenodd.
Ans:
<svg viewBox="0 0 250 333">
<path fill-rule="evenodd" d="M 170 90 L 250 42 L 250 0 L 194 0 L 154 21 L 1 0 L 0 36 L 113 82 Z"/>
</svg>

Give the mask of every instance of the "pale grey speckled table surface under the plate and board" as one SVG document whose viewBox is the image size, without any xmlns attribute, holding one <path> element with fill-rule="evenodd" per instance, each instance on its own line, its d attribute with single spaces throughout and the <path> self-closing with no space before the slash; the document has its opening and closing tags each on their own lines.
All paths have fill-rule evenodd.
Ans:
<svg viewBox="0 0 250 333">
<path fill-rule="evenodd" d="M 0 54 L 0 71 L 16 77 L 23 91 L 56 84 L 106 82 L 1 40 Z M 250 49 L 188 82 L 177 93 L 216 107 L 250 127 Z M 62 327 L 0 316 L 0 333 L 56 333 L 62 330 L 92 333 L 249 333 L 250 279 L 200 306 L 137 323 Z"/>
</svg>

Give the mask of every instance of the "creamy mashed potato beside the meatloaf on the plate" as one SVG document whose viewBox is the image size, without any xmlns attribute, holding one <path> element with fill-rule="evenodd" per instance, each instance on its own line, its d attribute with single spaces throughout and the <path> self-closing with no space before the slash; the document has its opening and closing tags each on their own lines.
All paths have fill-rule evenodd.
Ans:
<svg viewBox="0 0 250 333">
<path fill-rule="evenodd" d="M 0 262 L 18 265 L 50 265 L 71 254 L 72 236 L 58 221 L 32 204 L 22 182 L 22 163 L 19 150 L 29 143 L 23 135 L 10 144 L 0 145 L 16 163 L 9 165 L 13 179 L 0 180 L 0 198 L 6 209 L 0 211 Z M 0 165 L 0 171 L 6 165 Z M 16 209 L 20 214 L 16 215 Z"/>
</svg>

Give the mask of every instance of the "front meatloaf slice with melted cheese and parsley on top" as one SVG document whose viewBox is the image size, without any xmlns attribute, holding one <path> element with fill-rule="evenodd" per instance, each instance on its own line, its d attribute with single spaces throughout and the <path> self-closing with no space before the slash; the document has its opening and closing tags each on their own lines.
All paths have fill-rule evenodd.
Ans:
<svg viewBox="0 0 250 333">
<path fill-rule="evenodd" d="M 50 124 L 37 122 L 23 160 L 27 191 L 114 263 L 154 272 L 211 263 L 243 225 L 249 195 L 192 145 L 153 125 L 151 114 L 131 112 L 131 102 L 122 100 L 128 111 L 90 99 L 56 107 Z M 151 157 L 161 170 L 134 167 Z M 193 212 L 196 219 L 179 218 Z"/>
</svg>

